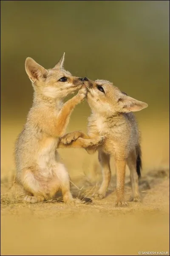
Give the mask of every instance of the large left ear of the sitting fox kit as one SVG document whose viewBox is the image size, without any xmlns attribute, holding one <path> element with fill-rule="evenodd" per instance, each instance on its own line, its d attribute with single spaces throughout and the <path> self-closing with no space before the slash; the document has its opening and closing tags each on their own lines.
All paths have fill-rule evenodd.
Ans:
<svg viewBox="0 0 170 256">
<path fill-rule="evenodd" d="M 26 58 L 25 68 L 26 73 L 32 83 L 39 80 L 40 77 L 45 77 L 48 73 L 48 71 L 44 67 L 40 66 L 36 61 L 34 61 L 30 57 Z"/>
</svg>

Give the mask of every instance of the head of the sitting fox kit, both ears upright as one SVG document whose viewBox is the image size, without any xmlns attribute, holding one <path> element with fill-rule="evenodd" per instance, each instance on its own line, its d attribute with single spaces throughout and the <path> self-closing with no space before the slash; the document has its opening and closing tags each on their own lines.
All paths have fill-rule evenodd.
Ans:
<svg viewBox="0 0 170 256">
<path fill-rule="evenodd" d="M 63 63 L 64 55 L 53 69 L 46 70 L 32 58 L 26 58 L 26 73 L 35 92 L 49 98 L 62 99 L 82 86 L 82 79 L 66 71 Z"/>
</svg>

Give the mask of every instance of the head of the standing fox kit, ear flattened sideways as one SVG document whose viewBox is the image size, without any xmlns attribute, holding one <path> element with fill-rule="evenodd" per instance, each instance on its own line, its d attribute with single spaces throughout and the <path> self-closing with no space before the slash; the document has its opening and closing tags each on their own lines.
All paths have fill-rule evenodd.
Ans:
<svg viewBox="0 0 170 256">
<path fill-rule="evenodd" d="M 139 111 L 147 104 L 122 93 L 116 86 L 106 80 L 83 80 L 87 87 L 87 100 L 92 111 L 101 114 Z"/>
</svg>

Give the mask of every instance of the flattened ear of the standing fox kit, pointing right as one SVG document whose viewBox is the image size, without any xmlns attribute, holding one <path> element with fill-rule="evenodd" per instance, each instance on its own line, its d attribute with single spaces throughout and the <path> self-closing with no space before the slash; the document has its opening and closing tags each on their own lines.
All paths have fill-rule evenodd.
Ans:
<svg viewBox="0 0 170 256">
<path fill-rule="evenodd" d="M 129 96 L 122 96 L 118 102 L 123 112 L 140 111 L 143 108 L 147 108 L 148 105 L 145 102 L 141 102 L 137 99 L 133 99 Z"/>
</svg>

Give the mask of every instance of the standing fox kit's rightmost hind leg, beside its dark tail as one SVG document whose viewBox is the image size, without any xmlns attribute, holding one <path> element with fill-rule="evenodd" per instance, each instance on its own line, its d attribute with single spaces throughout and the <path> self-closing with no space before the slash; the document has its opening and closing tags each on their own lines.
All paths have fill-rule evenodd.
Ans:
<svg viewBox="0 0 170 256">
<path fill-rule="evenodd" d="M 140 202 L 138 174 L 136 172 L 136 157 L 136 150 L 133 150 L 130 153 L 130 156 L 127 158 L 127 165 L 130 170 L 130 181 L 132 186 L 132 197 L 130 198 L 130 201 Z"/>
</svg>

